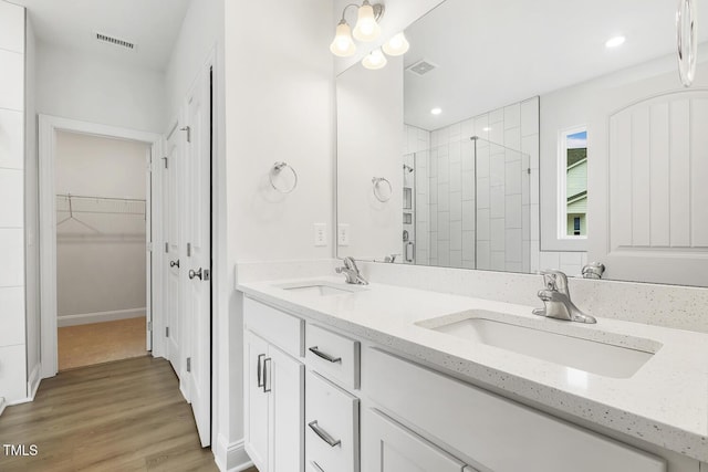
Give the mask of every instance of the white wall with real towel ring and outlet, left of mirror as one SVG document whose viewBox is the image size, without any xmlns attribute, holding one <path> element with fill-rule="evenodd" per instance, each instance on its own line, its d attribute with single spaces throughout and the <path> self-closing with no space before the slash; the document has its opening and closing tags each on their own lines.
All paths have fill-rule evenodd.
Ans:
<svg viewBox="0 0 708 472">
<path fill-rule="evenodd" d="M 242 306 L 241 295 L 233 292 L 236 262 L 333 254 L 331 244 L 314 248 L 312 223 L 327 223 L 332 231 L 334 81 L 327 44 L 334 25 L 329 0 L 227 1 L 223 18 L 227 208 L 219 217 L 228 225 L 228 245 L 220 258 L 230 271 L 230 325 L 218 343 L 228 336 L 229 432 L 237 441 L 243 427 Z M 288 161 L 300 176 L 288 196 L 269 190 L 268 172 L 277 160 Z"/>
</svg>

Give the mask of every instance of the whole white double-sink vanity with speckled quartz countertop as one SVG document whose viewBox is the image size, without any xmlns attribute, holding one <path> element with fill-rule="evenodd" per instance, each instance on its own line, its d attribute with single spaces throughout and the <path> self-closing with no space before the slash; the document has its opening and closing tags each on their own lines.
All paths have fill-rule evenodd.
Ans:
<svg viewBox="0 0 708 472">
<path fill-rule="evenodd" d="M 706 470 L 704 334 L 339 277 L 238 290 L 261 472 Z"/>
</svg>

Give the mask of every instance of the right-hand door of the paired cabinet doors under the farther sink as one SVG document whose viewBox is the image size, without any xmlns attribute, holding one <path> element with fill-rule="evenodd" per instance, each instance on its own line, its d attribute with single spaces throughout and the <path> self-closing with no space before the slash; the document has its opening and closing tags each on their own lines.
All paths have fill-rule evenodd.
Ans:
<svg viewBox="0 0 708 472">
<path fill-rule="evenodd" d="M 302 472 L 305 367 L 270 345 L 266 374 L 270 390 L 269 472 Z"/>
</svg>

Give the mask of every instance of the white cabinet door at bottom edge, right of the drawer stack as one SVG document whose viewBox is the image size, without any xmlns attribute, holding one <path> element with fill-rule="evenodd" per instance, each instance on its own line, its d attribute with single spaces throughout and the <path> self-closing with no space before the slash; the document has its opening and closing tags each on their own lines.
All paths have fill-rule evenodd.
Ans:
<svg viewBox="0 0 708 472">
<path fill-rule="evenodd" d="M 362 459 L 367 472 L 472 471 L 377 410 L 367 410 L 362 432 Z"/>
</svg>

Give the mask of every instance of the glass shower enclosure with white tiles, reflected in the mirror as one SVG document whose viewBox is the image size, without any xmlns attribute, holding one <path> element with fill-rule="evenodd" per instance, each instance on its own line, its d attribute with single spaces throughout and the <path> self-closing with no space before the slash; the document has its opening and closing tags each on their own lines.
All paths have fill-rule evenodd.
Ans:
<svg viewBox="0 0 708 472">
<path fill-rule="evenodd" d="M 404 166 L 404 182 L 414 186 L 415 201 L 413 224 L 404 224 L 408 263 L 530 272 L 528 155 L 471 137 L 404 162 L 413 167 Z"/>
</svg>

